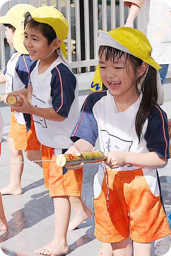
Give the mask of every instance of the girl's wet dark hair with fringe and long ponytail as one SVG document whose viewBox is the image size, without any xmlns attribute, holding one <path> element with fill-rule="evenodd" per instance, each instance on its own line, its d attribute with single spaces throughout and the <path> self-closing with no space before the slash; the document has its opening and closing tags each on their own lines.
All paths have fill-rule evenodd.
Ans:
<svg viewBox="0 0 171 256">
<path fill-rule="evenodd" d="M 99 48 L 99 58 L 101 58 L 102 54 L 105 54 L 106 61 L 110 60 L 119 60 L 121 56 L 125 56 L 125 67 L 127 70 L 127 74 L 129 75 L 129 71 L 126 66 L 127 60 L 132 65 L 132 68 L 135 73 L 137 73 L 137 68 L 140 67 L 143 63 L 143 60 L 135 57 L 132 54 L 123 52 L 121 50 L 115 49 L 110 46 L 100 46 Z M 143 125 L 145 120 L 157 104 L 157 70 L 153 68 L 151 65 L 148 65 L 147 75 L 142 83 L 141 92 L 142 92 L 142 100 L 140 102 L 140 106 L 137 112 L 136 120 L 135 120 L 135 129 L 138 136 L 138 140 L 140 142 Z M 138 84 L 141 77 L 138 77 L 136 83 Z M 103 90 L 107 90 L 106 86 L 103 84 Z"/>
</svg>

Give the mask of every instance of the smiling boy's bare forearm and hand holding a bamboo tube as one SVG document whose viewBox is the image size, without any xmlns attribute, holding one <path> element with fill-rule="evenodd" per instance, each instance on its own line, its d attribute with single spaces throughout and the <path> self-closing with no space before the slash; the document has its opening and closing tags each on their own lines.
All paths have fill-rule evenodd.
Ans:
<svg viewBox="0 0 171 256">
<path fill-rule="evenodd" d="M 17 112 L 22 112 L 22 113 L 33 114 L 35 116 L 40 116 L 42 118 L 52 120 L 52 121 L 57 121 L 57 122 L 62 122 L 65 120 L 65 117 L 57 114 L 53 108 L 34 107 L 30 104 L 30 102 L 26 99 L 24 95 L 20 94 L 19 96 L 23 98 L 23 101 L 24 101 L 23 105 L 20 107 L 11 106 L 13 110 Z"/>
</svg>

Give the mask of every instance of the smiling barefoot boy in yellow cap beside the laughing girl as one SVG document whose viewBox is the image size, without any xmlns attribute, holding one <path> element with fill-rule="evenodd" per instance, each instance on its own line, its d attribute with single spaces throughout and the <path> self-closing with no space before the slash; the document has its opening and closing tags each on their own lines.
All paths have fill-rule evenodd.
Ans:
<svg viewBox="0 0 171 256">
<path fill-rule="evenodd" d="M 70 230 L 93 214 L 81 198 L 82 167 L 78 172 L 67 172 L 55 161 L 56 155 L 66 152 L 72 144 L 70 134 L 79 116 L 78 82 L 66 60 L 63 40 L 68 34 L 68 22 L 63 14 L 55 7 L 41 6 L 24 17 L 24 45 L 34 61 L 30 65 L 27 99 L 20 94 L 23 105 L 12 108 L 33 114 L 41 142 L 44 183 L 54 202 L 55 235 L 50 244 L 34 252 L 54 256 L 68 251 L 71 206 L 76 216 Z"/>
</svg>

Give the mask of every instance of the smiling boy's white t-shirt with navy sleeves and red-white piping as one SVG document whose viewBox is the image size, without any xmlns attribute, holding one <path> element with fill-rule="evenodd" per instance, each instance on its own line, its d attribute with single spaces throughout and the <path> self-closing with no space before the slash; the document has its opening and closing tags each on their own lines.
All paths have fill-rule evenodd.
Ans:
<svg viewBox="0 0 171 256">
<path fill-rule="evenodd" d="M 60 56 L 40 75 L 39 62 L 34 61 L 30 66 L 32 105 L 54 108 L 66 119 L 56 122 L 33 115 L 37 139 L 51 148 L 69 148 L 72 145 L 70 135 L 79 116 L 77 78 Z"/>
</svg>

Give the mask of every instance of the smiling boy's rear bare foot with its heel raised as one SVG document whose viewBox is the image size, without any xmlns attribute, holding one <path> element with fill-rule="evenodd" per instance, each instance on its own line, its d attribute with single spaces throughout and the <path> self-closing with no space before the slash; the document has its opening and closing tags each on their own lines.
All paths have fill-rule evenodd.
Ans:
<svg viewBox="0 0 171 256">
<path fill-rule="evenodd" d="M 73 220 L 68 225 L 68 231 L 74 230 L 78 227 L 79 224 L 81 224 L 83 221 L 90 218 L 93 214 L 93 211 L 87 207 L 87 211 L 83 212 L 81 215 L 75 216 Z"/>
</svg>

